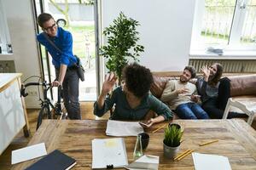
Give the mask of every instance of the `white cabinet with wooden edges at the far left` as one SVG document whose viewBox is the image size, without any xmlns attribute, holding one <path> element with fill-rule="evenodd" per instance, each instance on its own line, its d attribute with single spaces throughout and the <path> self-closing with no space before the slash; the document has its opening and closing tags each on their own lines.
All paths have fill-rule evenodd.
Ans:
<svg viewBox="0 0 256 170">
<path fill-rule="evenodd" d="M 20 98 L 20 73 L 0 74 L 0 155 L 23 128 L 29 135 L 24 99 Z"/>
</svg>

